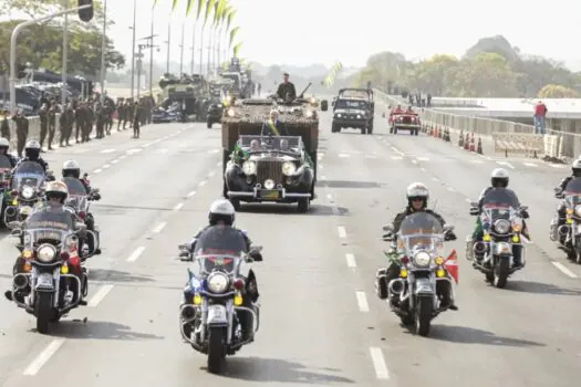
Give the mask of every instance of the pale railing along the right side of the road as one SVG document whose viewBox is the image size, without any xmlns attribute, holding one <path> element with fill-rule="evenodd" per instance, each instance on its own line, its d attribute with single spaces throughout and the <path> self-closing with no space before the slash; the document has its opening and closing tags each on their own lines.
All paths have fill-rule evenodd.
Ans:
<svg viewBox="0 0 581 387">
<path fill-rule="evenodd" d="M 375 101 L 385 106 L 403 104 L 398 96 L 374 90 Z M 424 125 L 446 128 L 455 134 L 474 134 L 494 143 L 495 151 L 536 154 L 549 159 L 575 158 L 581 154 L 581 135 L 548 128 L 547 135 L 536 135 L 532 125 L 476 116 L 461 116 L 434 108 L 419 111 Z"/>
</svg>

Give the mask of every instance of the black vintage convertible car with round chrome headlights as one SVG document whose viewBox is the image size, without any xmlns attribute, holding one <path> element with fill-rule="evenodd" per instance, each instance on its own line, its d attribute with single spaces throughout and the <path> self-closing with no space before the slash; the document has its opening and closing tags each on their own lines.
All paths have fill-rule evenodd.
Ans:
<svg viewBox="0 0 581 387">
<path fill-rule="evenodd" d="M 307 212 L 314 199 L 313 161 L 300 136 L 240 136 L 224 181 L 237 210 L 240 201 L 270 201 L 297 202 Z"/>
</svg>

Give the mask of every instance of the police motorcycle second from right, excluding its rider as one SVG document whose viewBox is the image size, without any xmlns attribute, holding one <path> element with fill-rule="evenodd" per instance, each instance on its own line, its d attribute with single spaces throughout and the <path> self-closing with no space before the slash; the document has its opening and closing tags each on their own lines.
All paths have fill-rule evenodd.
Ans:
<svg viewBox="0 0 581 387">
<path fill-rule="evenodd" d="M 504 289 L 508 278 L 525 268 L 526 251 L 521 233 L 527 209 L 519 205 L 512 190 L 504 188 L 494 188 L 486 194 L 481 213 L 478 203 L 470 202 L 470 215 L 480 217 L 484 237 L 474 243 L 474 254 L 467 251 L 466 257 L 468 260 L 474 255 L 483 257 L 481 261 L 475 260 L 473 266 L 496 287 Z M 515 253 L 520 253 L 521 266 L 515 266 Z"/>
</svg>

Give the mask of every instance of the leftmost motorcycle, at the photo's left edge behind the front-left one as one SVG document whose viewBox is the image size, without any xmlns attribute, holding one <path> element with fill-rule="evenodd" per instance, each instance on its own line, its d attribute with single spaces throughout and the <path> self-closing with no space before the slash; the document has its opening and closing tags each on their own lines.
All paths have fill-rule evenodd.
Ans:
<svg viewBox="0 0 581 387">
<path fill-rule="evenodd" d="M 25 220 L 44 197 L 44 184 L 53 178 L 51 171 L 44 172 L 35 161 L 20 163 L 12 172 L 11 201 L 4 210 L 4 223 Z"/>
</svg>

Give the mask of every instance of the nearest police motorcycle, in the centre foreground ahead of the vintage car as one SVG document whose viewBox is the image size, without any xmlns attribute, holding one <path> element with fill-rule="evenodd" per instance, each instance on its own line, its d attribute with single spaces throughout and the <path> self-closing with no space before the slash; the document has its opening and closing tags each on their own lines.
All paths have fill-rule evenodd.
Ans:
<svg viewBox="0 0 581 387">
<path fill-rule="evenodd" d="M 252 343 L 259 327 L 260 305 L 250 301 L 248 275 L 242 272 L 245 264 L 262 260 L 262 248 L 252 247 L 246 253 L 239 232 L 205 232 L 189 253 L 193 263 L 180 305 L 180 332 L 195 351 L 207 355 L 212 374 L 222 370 L 227 355 Z M 179 249 L 188 251 L 189 247 L 180 244 Z"/>
</svg>

